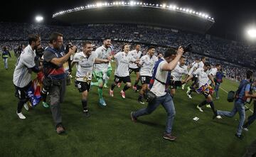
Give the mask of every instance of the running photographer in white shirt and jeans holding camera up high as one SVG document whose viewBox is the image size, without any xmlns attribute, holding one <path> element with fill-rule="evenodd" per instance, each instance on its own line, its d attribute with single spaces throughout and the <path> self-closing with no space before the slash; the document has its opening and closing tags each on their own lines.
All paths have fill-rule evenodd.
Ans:
<svg viewBox="0 0 256 157">
<path fill-rule="evenodd" d="M 181 58 L 183 53 L 184 50 L 181 46 L 178 48 L 177 51 L 174 49 L 166 50 L 166 53 L 164 53 L 164 60 L 160 59 L 154 65 L 154 72 L 150 85 L 150 92 L 155 95 L 154 99 L 149 102 L 146 108 L 139 109 L 136 112 L 131 112 L 131 119 L 132 121 L 136 122 L 138 117 L 144 116 L 146 114 L 151 114 L 151 112 L 154 112 L 159 104 L 162 104 L 164 109 L 166 109 L 168 116 L 166 122 L 166 131 L 163 138 L 170 141 L 174 141 L 176 139 L 176 136 L 171 135 L 171 129 L 175 117 L 175 108 L 171 95 L 166 92 L 166 90 L 170 83 L 171 70 L 174 70 L 178 63 L 178 60 Z M 176 58 L 174 58 L 175 56 Z"/>
</svg>

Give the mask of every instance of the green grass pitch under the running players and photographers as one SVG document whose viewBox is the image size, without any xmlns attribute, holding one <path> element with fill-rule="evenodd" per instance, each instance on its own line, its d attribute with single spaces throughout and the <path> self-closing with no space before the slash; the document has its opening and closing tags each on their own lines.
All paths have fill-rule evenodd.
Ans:
<svg viewBox="0 0 256 157">
<path fill-rule="evenodd" d="M 196 105 L 202 95 L 192 94 L 188 99 L 186 90 L 179 89 L 174 97 L 176 117 L 174 142 L 162 138 L 166 124 L 166 112 L 158 107 L 148 116 L 139 117 L 133 123 L 130 112 L 146 107 L 137 102 L 138 93 L 132 89 L 122 99 L 121 88 L 114 89 L 110 97 L 108 89 L 103 94 L 107 107 L 99 107 L 97 87 L 92 87 L 88 105 L 90 118 L 82 115 L 80 93 L 74 84 L 67 87 L 65 102 L 61 104 L 66 134 L 58 135 L 53 126 L 50 109 L 40 103 L 27 112 L 26 119 L 18 119 L 12 82 L 16 58 L 9 58 L 9 70 L 0 61 L 0 156 L 242 156 L 245 149 L 255 140 L 256 126 L 243 131 L 245 138 L 237 139 L 234 134 L 238 126 L 238 114 L 233 118 L 212 120 L 210 108 L 201 113 Z M 114 66 L 113 66 L 114 67 Z M 73 76 L 75 72 L 73 72 Z M 135 75 L 132 74 L 132 82 Z M 110 78 L 109 86 L 113 81 Z M 238 83 L 224 80 L 225 90 L 235 90 Z M 226 101 L 227 93 L 220 90 L 220 99 L 215 100 L 216 109 L 231 110 L 233 103 Z M 247 112 L 247 115 L 251 114 Z M 193 117 L 199 117 L 193 121 Z"/>
</svg>

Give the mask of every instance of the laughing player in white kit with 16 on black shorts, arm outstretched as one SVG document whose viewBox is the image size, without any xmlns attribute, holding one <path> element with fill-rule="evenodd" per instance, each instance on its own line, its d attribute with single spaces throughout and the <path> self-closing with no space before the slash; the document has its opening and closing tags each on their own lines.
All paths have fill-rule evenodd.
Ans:
<svg viewBox="0 0 256 157">
<path fill-rule="evenodd" d="M 72 67 L 77 64 L 77 72 L 75 74 L 75 86 L 82 93 L 82 112 L 85 117 L 90 117 L 87 108 L 87 97 L 90 90 L 90 82 L 92 81 L 92 69 L 95 62 L 108 63 L 107 59 L 98 59 L 97 54 L 92 51 L 92 42 L 85 41 L 82 44 L 82 52 L 75 53 Z"/>
</svg>

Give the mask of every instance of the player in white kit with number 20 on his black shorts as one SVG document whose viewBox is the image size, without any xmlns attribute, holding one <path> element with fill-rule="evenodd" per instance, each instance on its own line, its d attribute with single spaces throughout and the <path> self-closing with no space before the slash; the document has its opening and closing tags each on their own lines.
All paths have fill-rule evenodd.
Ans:
<svg viewBox="0 0 256 157">
<path fill-rule="evenodd" d="M 142 82 L 142 90 L 139 92 L 139 98 L 138 102 L 141 104 L 144 104 L 143 97 L 146 90 L 149 90 L 149 82 L 152 77 L 152 70 L 154 67 L 154 64 L 158 60 L 156 55 L 154 55 L 156 48 L 153 46 L 149 46 L 147 49 L 146 55 L 143 55 L 142 58 L 140 58 L 138 66 L 140 67 L 139 75 L 140 80 Z"/>
</svg>

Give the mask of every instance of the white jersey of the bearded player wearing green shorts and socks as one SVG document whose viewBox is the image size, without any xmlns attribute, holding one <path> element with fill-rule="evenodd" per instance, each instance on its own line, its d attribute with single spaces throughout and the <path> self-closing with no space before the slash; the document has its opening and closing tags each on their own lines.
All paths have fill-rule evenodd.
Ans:
<svg viewBox="0 0 256 157">
<path fill-rule="evenodd" d="M 107 60 L 111 55 L 111 48 L 105 48 L 103 45 L 95 50 L 97 58 Z M 108 63 L 95 64 L 95 72 L 107 72 Z"/>
</svg>

